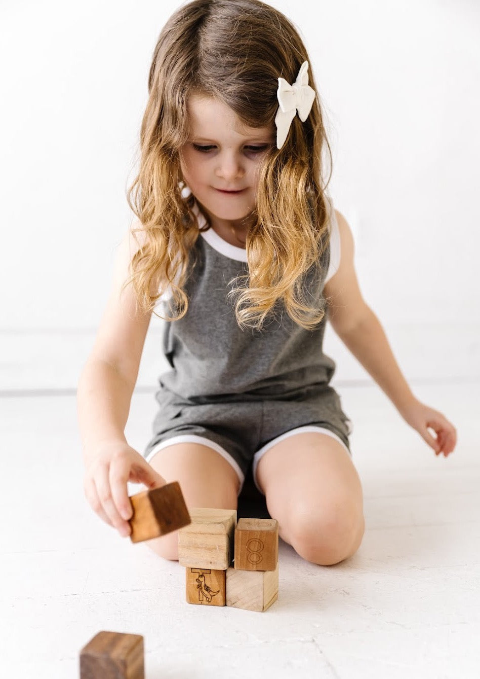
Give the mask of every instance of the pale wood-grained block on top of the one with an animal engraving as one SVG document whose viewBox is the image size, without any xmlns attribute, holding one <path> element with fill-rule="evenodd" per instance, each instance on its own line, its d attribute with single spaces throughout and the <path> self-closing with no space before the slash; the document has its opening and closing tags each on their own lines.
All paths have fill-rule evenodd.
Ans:
<svg viewBox="0 0 480 679">
<path fill-rule="evenodd" d="M 191 524 L 178 531 L 178 563 L 226 570 L 233 559 L 236 509 L 191 507 Z"/>
</svg>

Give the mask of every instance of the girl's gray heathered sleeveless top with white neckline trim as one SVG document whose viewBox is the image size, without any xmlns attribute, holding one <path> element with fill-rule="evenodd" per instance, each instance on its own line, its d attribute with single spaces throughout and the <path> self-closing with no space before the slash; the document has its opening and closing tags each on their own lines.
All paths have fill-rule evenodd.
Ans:
<svg viewBox="0 0 480 679">
<path fill-rule="evenodd" d="M 331 258 L 331 246 L 338 246 L 339 240 L 333 203 L 328 200 L 330 245 L 323 254 L 321 275 L 308 272 L 305 278 L 308 299 L 315 301 L 317 308 L 325 306 L 323 285 L 327 274 L 329 278 L 335 272 L 339 258 L 338 253 L 334 255 L 337 261 Z M 194 211 L 202 227 L 205 217 L 196 204 Z M 163 352 L 172 369 L 159 377 L 159 403 L 272 396 L 296 400 L 306 387 L 324 388 L 336 367 L 322 350 L 326 316 L 313 331 L 294 323 L 285 310 L 267 321 L 262 331 L 241 329 L 233 301 L 226 295 L 231 280 L 248 273 L 246 251 L 224 241 L 212 228 L 200 233 L 194 249 L 196 263 L 185 288 L 188 311 L 180 320 L 165 322 Z M 172 310 L 168 293 L 160 304 L 163 315 Z"/>
</svg>

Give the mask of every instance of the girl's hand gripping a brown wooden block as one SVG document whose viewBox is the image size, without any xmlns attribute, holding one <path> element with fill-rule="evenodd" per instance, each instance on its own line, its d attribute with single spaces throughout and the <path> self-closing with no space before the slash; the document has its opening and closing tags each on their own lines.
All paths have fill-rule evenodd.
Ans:
<svg viewBox="0 0 480 679">
<path fill-rule="evenodd" d="M 84 450 L 85 477 L 83 490 L 90 506 L 107 524 L 117 528 L 121 536 L 132 529 L 132 503 L 128 498 L 127 481 L 144 483 L 148 490 L 167 483 L 140 453 L 124 441 L 103 443 Z"/>
</svg>

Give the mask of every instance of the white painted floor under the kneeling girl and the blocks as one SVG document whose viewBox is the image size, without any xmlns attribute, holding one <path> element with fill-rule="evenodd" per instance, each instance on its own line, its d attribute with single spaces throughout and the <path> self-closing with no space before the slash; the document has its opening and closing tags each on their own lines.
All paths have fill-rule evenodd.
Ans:
<svg viewBox="0 0 480 679">
<path fill-rule="evenodd" d="M 281 543 L 264 613 L 184 601 L 184 568 L 106 526 L 83 498 L 75 397 L 0 399 L 0 674 L 79 676 L 101 629 L 142 634 L 146 679 L 478 679 L 478 384 L 414 386 L 458 428 L 437 458 L 375 386 L 337 387 L 354 422 L 367 530 L 337 566 Z M 153 394 L 135 394 L 141 448 Z M 142 490 L 132 486 L 131 492 Z"/>
</svg>

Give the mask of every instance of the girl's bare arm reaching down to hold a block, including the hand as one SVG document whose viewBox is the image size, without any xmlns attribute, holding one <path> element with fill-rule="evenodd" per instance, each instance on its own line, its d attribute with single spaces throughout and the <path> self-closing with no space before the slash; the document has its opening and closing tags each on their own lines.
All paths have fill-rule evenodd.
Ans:
<svg viewBox="0 0 480 679">
<path fill-rule="evenodd" d="M 127 481 L 147 488 L 165 483 L 128 445 L 124 434 L 151 316 L 137 311 L 131 285 L 121 289 L 129 276 L 133 246 L 138 244 L 127 234 L 117 252 L 111 294 L 77 390 L 85 496 L 122 535 L 129 534 L 127 519 L 132 515 Z"/>
</svg>

